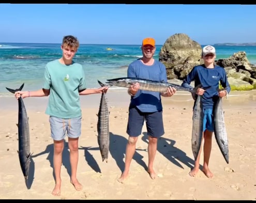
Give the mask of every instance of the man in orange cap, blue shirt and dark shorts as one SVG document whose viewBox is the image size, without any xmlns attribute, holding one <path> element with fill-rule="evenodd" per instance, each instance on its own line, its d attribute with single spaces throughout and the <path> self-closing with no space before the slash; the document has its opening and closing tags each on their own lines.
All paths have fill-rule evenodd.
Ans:
<svg viewBox="0 0 256 203">
<path fill-rule="evenodd" d="M 156 51 L 155 40 L 153 38 L 145 38 L 142 41 L 141 50 L 143 57 L 130 63 L 127 77 L 167 82 L 165 66 L 153 58 Z M 128 177 L 131 160 L 135 153 L 135 144 L 141 134 L 144 121 L 146 121 L 148 134 L 147 172 L 150 178 L 156 178 L 153 162 L 158 138 L 164 134 L 161 96 L 170 97 L 176 92 L 176 89 L 171 87 L 167 88 L 167 91 L 163 93 L 139 90 L 139 88 L 140 84 L 138 82 L 131 84 L 128 88 L 131 101 L 126 132 L 129 138 L 126 145 L 125 169 L 121 177 L 117 179 L 121 183 Z"/>
</svg>

